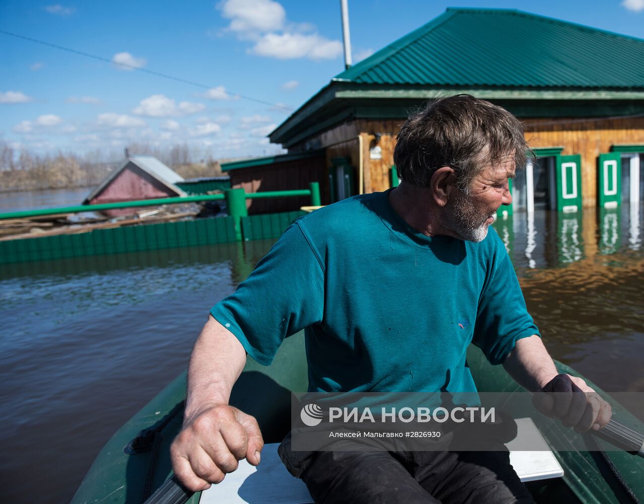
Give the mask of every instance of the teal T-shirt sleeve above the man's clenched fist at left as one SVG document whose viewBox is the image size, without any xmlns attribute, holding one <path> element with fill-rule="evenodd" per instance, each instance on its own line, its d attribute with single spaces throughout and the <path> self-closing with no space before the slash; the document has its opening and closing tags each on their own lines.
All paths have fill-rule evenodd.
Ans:
<svg viewBox="0 0 644 504">
<path fill-rule="evenodd" d="M 236 291 L 211 309 L 263 365 L 272 362 L 285 337 L 321 322 L 323 313 L 323 269 L 297 222 Z"/>
</svg>

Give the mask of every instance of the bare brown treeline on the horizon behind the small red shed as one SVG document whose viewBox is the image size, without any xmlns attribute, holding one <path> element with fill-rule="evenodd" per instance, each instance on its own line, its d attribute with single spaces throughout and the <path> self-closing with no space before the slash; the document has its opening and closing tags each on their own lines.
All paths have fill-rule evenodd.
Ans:
<svg viewBox="0 0 644 504">
<path fill-rule="evenodd" d="M 131 144 L 128 152 L 130 155 L 155 156 L 184 179 L 222 174 L 218 161 L 211 157 L 196 157 L 185 144 L 172 148 Z M 95 186 L 124 159 L 122 153 L 106 155 L 102 151 L 84 155 L 62 152 L 38 155 L 26 149 L 15 151 L 6 142 L 0 142 L 0 192 Z"/>
</svg>

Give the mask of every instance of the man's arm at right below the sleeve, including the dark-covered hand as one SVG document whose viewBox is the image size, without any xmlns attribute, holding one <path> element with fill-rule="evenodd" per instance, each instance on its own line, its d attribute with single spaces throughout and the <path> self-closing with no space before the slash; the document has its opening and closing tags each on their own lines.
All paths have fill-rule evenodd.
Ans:
<svg viewBox="0 0 644 504">
<path fill-rule="evenodd" d="M 574 427 L 577 432 L 597 431 L 611 420 L 611 405 L 582 378 L 557 374 L 553 359 L 536 334 L 516 340 L 503 367 L 519 385 L 535 393 L 536 409 L 559 418 L 566 427 Z"/>
</svg>

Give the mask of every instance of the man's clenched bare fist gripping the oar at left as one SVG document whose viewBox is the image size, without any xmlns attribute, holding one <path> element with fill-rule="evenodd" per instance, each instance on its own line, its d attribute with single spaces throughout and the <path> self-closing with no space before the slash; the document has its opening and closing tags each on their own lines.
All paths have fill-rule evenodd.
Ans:
<svg viewBox="0 0 644 504">
<path fill-rule="evenodd" d="M 220 483 L 245 458 L 260 463 L 264 446 L 254 417 L 225 405 L 215 405 L 186 418 L 184 429 L 170 447 L 173 469 L 189 490 L 199 492 Z"/>
</svg>

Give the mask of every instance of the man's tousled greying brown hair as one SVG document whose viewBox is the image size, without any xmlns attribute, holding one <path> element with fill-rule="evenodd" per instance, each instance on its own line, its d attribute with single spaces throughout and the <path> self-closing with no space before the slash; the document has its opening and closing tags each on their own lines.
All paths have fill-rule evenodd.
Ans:
<svg viewBox="0 0 644 504">
<path fill-rule="evenodd" d="M 488 164 L 514 153 L 516 167 L 523 168 L 530 152 L 514 115 L 471 95 L 455 95 L 431 101 L 404 122 L 393 162 L 401 180 L 419 187 L 429 186 L 433 173 L 449 166 L 467 193 Z"/>
</svg>

